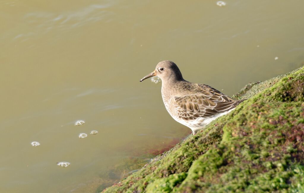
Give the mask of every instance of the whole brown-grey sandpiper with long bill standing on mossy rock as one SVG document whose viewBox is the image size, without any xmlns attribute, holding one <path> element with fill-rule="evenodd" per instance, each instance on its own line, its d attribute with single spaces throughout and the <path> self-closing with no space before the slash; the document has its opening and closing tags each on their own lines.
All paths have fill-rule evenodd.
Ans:
<svg viewBox="0 0 304 193">
<path fill-rule="evenodd" d="M 178 66 L 169 60 L 159 62 L 140 82 L 153 76 L 161 79 L 161 96 L 168 113 L 189 127 L 193 135 L 246 100 L 234 100 L 209 85 L 186 81 Z"/>
</svg>

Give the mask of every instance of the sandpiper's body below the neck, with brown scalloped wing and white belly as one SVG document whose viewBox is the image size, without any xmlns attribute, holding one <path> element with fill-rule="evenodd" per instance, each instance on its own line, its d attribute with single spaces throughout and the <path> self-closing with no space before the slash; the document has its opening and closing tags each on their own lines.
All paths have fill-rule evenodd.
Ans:
<svg viewBox="0 0 304 193">
<path fill-rule="evenodd" d="M 188 126 L 193 133 L 244 101 L 234 100 L 209 85 L 188 81 L 178 81 L 170 87 L 163 83 L 162 97 L 173 119 Z"/>
</svg>

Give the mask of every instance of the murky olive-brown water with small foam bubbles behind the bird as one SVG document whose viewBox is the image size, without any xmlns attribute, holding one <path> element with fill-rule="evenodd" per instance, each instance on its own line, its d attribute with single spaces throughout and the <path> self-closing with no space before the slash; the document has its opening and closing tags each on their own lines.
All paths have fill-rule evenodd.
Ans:
<svg viewBox="0 0 304 193">
<path fill-rule="evenodd" d="M 227 95 L 302 65 L 304 1 L 216 3 L 0 1 L 0 192 L 101 191 L 190 134 L 139 82 L 161 60 Z"/>
</svg>

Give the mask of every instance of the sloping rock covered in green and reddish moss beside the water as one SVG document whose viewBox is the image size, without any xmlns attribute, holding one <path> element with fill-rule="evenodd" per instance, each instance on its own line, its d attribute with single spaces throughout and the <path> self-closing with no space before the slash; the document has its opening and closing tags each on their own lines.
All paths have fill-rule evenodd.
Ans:
<svg viewBox="0 0 304 193">
<path fill-rule="evenodd" d="M 304 67 L 103 192 L 304 192 Z"/>
</svg>

